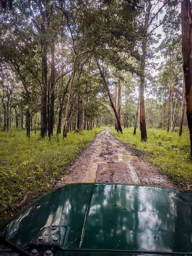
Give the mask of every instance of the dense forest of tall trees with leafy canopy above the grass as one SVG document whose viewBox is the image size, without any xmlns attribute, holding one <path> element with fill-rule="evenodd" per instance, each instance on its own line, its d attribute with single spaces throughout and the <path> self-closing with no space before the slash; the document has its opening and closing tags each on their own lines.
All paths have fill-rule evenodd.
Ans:
<svg viewBox="0 0 192 256">
<path fill-rule="evenodd" d="M 66 138 L 114 124 L 134 134 L 140 126 L 147 140 L 152 127 L 181 136 L 188 120 L 192 134 L 188 0 L 14 0 L 1 9 L 5 131 L 51 139 L 54 128 Z"/>
</svg>

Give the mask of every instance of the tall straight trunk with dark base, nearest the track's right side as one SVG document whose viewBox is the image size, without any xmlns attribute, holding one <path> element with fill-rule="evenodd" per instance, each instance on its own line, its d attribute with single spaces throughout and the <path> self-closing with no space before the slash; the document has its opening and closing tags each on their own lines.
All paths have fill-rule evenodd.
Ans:
<svg viewBox="0 0 192 256">
<path fill-rule="evenodd" d="M 147 140 L 147 130 L 146 130 L 146 122 L 145 122 L 145 102 L 144 102 L 144 82 L 145 82 L 145 58 L 147 53 L 147 32 L 149 25 L 149 15 L 151 11 L 151 2 L 147 7 L 147 11 L 145 14 L 145 27 L 144 27 L 144 36 L 142 42 L 142 55 L 141 55 L 141 80 L 139 85 L 140 91 L 140 130 L 141 130 L 141 140 Z"/>
</svg>

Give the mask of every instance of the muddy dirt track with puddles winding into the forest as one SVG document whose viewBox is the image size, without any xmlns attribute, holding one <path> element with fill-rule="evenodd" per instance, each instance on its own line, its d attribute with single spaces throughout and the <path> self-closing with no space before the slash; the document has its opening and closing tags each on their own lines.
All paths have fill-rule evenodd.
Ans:
<svg viewBox="0 0 192 256">
<path fill-rule="evenodd" d="M 176 188 L 155 166 L 144 162 L 133 150 L 110 134 L 110 129 L 96 135 L 80 156 L 57 180 L 55 187 L 76 182 L 149 184 Z"/>
</svg>

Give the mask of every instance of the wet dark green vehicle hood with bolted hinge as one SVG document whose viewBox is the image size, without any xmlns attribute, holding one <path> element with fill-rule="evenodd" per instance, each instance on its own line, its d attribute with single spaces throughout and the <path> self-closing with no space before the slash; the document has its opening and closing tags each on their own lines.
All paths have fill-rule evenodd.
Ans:
<svg viewBox="0 0 192 256">
<path fill-rule="evenodd" d="M 55 229 L 50 228 L 53 223 Z M 142 185 L 68 184 L 20 211 L 1 226 L 0 235 L 27 252 L 36 248 L 39 255 L 47 249 L 53 256 L 192 254 L 192 193 Z"/>
</svg>

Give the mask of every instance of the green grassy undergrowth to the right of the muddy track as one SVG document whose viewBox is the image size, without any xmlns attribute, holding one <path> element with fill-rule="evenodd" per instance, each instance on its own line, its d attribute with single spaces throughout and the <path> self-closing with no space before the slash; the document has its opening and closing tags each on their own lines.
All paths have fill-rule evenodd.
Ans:
<svg viewBox="0 0 192 256">
<path fill-rule="evenodd" d="M 148 129 L 147 142 L 141 141 L 140 130 L 133 136 L 133 129 L 123 129 L 123 134 L 113 128 L 111 133 L 121 142 L 133 148 L 146 161 L 166 173 L 170 180 L 181 188 L 192 189 L 192 160 L 190 155 L 189 132 L 168 133 L 162 130 Z"/>
</svg>

